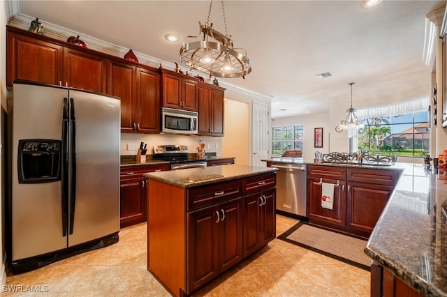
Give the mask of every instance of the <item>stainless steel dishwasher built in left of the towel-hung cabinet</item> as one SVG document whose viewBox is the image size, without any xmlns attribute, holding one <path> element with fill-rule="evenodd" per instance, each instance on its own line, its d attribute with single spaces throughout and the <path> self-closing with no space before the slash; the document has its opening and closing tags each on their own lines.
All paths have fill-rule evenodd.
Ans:
<svg viewBox="0 0 447 297">
<path fill-rule="evenodd" d="M 272 163 L 277 171 L 277 210 L 307 216 L 306 165 Z"/>
</svg>

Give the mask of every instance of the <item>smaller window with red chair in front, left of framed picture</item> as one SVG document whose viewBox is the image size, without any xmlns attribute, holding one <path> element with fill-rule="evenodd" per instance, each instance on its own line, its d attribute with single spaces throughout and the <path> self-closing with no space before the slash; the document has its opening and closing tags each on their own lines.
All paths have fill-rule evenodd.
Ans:
<svg viewBox="0 0 447 297">
<path fill-rule="evenodd" d="M 272 128 L 272 155 L 281 156 L 288 149 L 304 147 L 304 125 L 284 125 Z"/>
</svg>

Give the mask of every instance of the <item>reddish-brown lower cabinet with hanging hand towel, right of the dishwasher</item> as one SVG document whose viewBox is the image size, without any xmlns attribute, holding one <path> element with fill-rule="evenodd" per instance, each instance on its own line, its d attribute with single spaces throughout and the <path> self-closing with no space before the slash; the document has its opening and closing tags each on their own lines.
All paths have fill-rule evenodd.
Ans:
<svg viewBox="0 0 447 297">
<path fill-rule="evenodd" d="M 309 222 L 369 237 L 401 174 L 400 169 L 308 165 Z M 321 206 L 322 183 L 334 185 L 332 209 Z"/>
</svg>

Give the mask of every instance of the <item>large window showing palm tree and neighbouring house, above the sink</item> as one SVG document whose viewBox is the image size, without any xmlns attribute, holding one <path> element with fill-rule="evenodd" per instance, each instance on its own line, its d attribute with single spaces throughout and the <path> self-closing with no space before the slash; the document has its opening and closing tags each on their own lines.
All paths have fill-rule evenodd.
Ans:
<svg viewBox="0 0 447 297">
<path fill-rule="evenodd" d="M 376 117 L 363 121 L 358 149 L 371 154 L 423 157 L 430 147 L 428 112 Z"/>
</svg>

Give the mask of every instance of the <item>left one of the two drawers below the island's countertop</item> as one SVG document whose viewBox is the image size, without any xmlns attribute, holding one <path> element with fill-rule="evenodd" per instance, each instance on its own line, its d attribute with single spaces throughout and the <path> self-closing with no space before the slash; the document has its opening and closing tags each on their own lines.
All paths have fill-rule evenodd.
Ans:
<svg viewBox="0 0 447 297">
<path fill-rule="evenodd" d="M 214 183 L 186 191 L 187 211 L 242 196 L 242 181 Z"/>
</svg>

